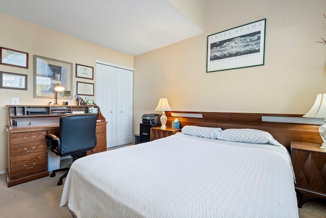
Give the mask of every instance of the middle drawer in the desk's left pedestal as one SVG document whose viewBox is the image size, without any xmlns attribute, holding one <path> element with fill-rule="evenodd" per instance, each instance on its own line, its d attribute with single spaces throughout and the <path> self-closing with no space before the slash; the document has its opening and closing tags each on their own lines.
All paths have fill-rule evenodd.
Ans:
<svg viewBox="0 0 326 218">
<path fill-rule="evenodd" d="M 34 154 L 37 152 L 45 152 L 47 149 L 46 141 L 35 141 L 24 144 L 15 144 L 9 146 L 10 157 L 15 157 L 19 155 Z"/>
</svg>

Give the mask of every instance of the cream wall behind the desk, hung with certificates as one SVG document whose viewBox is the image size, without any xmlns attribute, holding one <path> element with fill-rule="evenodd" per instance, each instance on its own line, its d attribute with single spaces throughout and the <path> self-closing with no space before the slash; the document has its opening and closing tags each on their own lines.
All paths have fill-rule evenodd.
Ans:
<svg viewBox="0 0 326 218">
<path fill-rule="evenodd" d="M 0 46 L 13 50 L 29 53 L 29 68 L 19 68 L 0 64 L 0 71 L 15 72 L 28 75 L 28 90 L 0 89 L 0 172 L 7 168 L 7 125 L 8 113 L 6 105 L 11 104 L 11 97 L 19 98 L 21 105 L 46 105 L 54 103 L 54 99 L 33 98 L 33 55 L 67 61 L 73 63 L 73 76 L 75 64 L 83 64 L 94 67 L 94 80 L 73 78 L 72 95 L 76 94 L 76 81 L 96 83 L 96 63 L 101 60 L 133 68 L 133 56 L 122 54 L 104 47 L 92 44 L 77 38 L 73 38 L 40 26 L 0 14 Z M 94 96 L 96 102 L 96 94 Z M 61 103 L 66 100 L 58 100 Z M 74 100 L 68 100 L 69 104 L 75 105 Z"/>
</svg>

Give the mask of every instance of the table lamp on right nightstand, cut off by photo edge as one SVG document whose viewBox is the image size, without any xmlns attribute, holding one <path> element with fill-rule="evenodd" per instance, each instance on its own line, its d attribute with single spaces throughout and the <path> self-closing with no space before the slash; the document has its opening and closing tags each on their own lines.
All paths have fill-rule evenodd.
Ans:
<svg viewBox="0 0 326 218">
<path fill-rule="evenodd" d="M 324 119 L 324 124 L 319 127 L 319 134 L 323 140 L 319 148 L 326 149 L 326 93 L 317 94 L 314 105 L 303 117 Z"/>
</svg>

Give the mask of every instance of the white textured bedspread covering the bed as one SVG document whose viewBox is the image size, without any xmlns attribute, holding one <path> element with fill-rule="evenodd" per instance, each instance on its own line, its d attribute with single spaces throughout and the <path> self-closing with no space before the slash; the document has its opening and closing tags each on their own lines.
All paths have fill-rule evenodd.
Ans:
<svg viewBox="0 0 326 218">
<path fill-rule="evenodd" d="M 77 217 L 298 217 L 284 149 L 212 141 L 177 134 L 80 158 L 60 206 Z"/>
</svg>

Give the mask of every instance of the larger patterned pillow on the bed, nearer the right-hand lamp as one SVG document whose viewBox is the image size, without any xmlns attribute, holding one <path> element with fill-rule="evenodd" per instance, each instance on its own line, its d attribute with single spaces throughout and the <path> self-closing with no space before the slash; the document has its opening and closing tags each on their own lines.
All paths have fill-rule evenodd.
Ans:
<svg viewBox="0 0 326 218">
<path fill-rule="evenodd" d="M 280 143 L 269 132 L 256 129 L 225 129 L 216 135 L 216 139 L 280 146 Z"/>
</svg>

